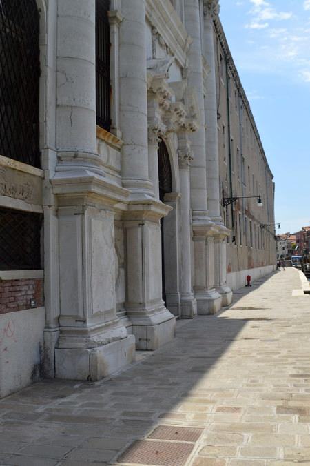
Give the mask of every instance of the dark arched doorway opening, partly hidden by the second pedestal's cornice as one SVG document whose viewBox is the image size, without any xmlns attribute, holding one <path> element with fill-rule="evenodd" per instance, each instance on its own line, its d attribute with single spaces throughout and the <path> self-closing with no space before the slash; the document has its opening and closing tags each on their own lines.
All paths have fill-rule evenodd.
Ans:
<svg viewBox="0 0 310 466">
<path fill-rule="evenodd" d="M 169 160 L 167 146 L 163 139 L 158 145 L 158 181 L 159 181 L 159 199 L 165 202 L 165 194 L 172 192 L 172 170 Z M 165 290 L 165 245 L 164 245 L 164 223 L 165 219 L 161 219 L 161 276 L 163 285 L 163 301 L 166 303 Z"/>
</svg>

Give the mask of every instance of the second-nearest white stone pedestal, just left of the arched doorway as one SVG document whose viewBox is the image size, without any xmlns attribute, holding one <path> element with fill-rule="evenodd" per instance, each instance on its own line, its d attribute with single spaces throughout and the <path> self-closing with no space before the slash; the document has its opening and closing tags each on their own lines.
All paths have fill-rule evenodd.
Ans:
<svg viewBox="0 0 310 466">
<path fill-rule="evenodd" d="M 131 201 L 123 214 L 127 245 L 127 299 L 137 349 L 154 350 L 174 337 L 175 317 L 162 299 L 160 219 L 172 207 L 154 199 Z"/>
</svg>

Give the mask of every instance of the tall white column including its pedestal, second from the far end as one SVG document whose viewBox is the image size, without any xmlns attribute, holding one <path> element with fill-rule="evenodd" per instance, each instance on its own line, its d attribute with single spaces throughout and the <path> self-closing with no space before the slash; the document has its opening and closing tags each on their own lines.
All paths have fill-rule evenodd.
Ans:
<svg viewBox="0 0 310 466">
<path fill-rule="evenodd" d="M 192 37 L 188 54 L 188 85 L 194 88 L 199 105 L 200 125 L 190 137 L 194 160 L 190 169 L 192 227 L 194 234 L 194 293 L 198 314 L 209 314 L 220 309 L 221 298 L 207 286 L 207 235 L 214 229 L 207 210 L 207 172 L 205 152 L 205 108 L 203 95 L 203 57 L 199 0 L 185 0 L 185 27 Z M 211 267 L 213 265 L 211 264 Z"/>
</svg>

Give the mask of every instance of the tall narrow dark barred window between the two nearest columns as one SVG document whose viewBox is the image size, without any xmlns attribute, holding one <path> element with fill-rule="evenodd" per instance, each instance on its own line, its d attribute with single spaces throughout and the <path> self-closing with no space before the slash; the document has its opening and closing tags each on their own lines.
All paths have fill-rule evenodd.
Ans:
<svg viewBox="0 0 310 466">
<path fill-rule="evenodd" d="M 110 131 L 110 0 L 96 0 L 96 121 Z"/>
</svg>

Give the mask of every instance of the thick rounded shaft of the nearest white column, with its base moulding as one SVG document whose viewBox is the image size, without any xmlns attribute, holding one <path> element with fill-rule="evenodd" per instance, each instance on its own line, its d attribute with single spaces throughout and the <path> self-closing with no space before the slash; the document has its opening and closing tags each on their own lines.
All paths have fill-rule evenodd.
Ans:
<svg viewBox="0 0 310 466">
<path fill-rule="evenodd" d="M 104 176 L 96 154 L 95 0 L 59 0 L 57 15 L 56 171 Z"/>
</svg>

